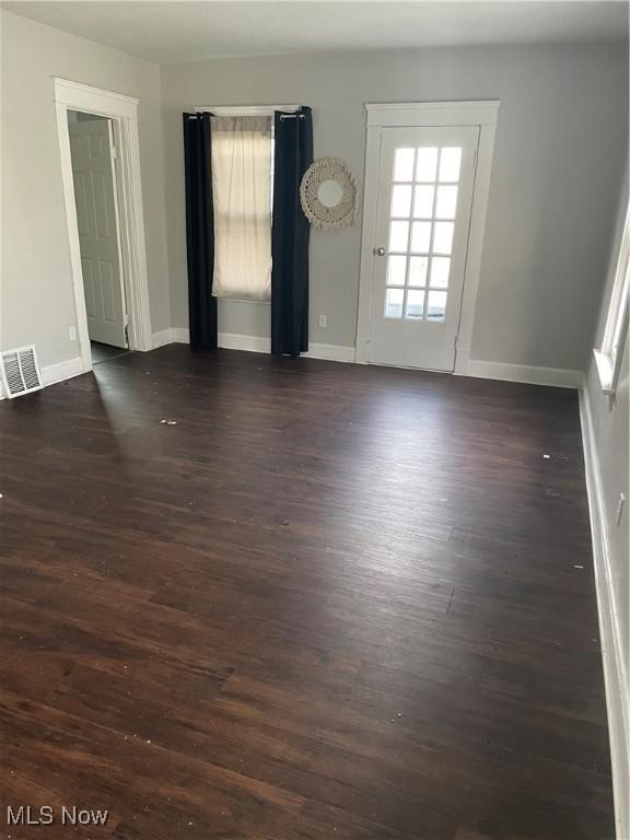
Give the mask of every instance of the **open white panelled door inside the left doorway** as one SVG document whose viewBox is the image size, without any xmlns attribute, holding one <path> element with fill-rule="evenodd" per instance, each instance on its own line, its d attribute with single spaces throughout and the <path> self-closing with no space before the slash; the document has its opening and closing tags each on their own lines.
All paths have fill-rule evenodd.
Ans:
<svg viewBox="0 0 630 840">
<path fill-rule="evenodd" d="M 91 119 L 68 128 L 88 331 L 94 341 L 127 347 L 112 122 Z"/>
</svg>

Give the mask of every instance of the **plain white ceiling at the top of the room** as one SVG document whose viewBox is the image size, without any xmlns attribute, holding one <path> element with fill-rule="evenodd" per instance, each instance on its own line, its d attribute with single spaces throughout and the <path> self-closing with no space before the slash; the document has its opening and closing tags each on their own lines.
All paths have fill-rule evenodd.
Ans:
<svg viewBox="0 0 630 840">
<path fill-rule="evenodd" d="M 628 37 L 623 0 L 46 0 L 2 8 L 161 63 L 393 47 Z"/>
</svg>

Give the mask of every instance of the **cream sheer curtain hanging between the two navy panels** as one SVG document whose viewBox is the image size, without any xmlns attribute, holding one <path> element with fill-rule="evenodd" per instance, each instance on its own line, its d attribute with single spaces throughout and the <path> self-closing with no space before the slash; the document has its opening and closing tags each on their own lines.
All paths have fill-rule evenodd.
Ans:
<svg viewBox="0 0 630 840">
<path fill-rule="evenodd" d="M 271 295 L 271 118 L 212 117 L 212 294 Z"/>
</svg>

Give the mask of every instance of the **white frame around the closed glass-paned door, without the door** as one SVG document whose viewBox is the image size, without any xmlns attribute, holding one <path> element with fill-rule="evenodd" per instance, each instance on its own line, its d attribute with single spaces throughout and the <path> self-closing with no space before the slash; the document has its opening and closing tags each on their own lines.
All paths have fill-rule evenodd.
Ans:
<svg viewBox="0 0 630 840">
<path fill-rule="evenodd" d="M 490 190 L 490 171 L 500 100 L 470 102 L 405 102 L 365 104 L 365 172 L 363 188 L 363 223 L 361 231 L 361 268 L 357 316 L 355 361 L 368 364 L 370 358 L 371 313 L 374 292 L 374 242 L 378 196 L 381 140 L 384 128 L 443 126 L 478 126 L 479 147 L 472 186 L 472 207 L 468 248 L 464 269 L 464 287 L 457 330 L 454 373 L 466 375 L 475 306 L 479 289 L 486 210 Z"/>
</svg>

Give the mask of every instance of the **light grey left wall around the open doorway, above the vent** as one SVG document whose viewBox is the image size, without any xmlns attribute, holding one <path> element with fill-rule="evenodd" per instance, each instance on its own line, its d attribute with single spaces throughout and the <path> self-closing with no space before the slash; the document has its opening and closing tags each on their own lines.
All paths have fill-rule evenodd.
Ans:
<svg viewBox="0 0 630 840">
<path fill-rule="evenodd" d="M 43 366 L 79 355 L 52 77 L 136 96 L 153 331 L 171 325 L 156 65 L 0 12 L 1 347 L 37 346 Z"/>
</svg>

